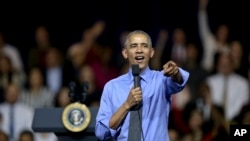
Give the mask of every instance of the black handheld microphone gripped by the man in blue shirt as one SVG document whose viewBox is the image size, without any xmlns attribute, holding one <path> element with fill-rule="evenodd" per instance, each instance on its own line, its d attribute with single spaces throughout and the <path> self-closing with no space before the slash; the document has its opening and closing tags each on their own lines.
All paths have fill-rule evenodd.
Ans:
<svg viewBox="0 0 250 141">
<path fill-rule="evenodd" d="M 134 64 L 132 65 L 132 74 L 134 76 L 134 87 L 141 87 L 140 85 L 140 68 L 138 64 Z M 140 102 L 139 104 L 135 105 L 132 109 L 133 110 L 138 110 L 142 105 L 142 102 Z"/>
</svg>

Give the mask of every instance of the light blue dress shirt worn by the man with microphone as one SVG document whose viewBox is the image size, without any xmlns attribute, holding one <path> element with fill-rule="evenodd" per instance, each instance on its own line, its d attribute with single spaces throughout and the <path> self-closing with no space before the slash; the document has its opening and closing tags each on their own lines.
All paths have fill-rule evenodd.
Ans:
<svg viewBox="0 0 250 141">
<path fill-rule="evenodd" d="M 181 68 L 182 84 L 164 76 L 163 71 L 147 67 L 140 76 L 143 95 L 142 130 L 145 141 L 169 141 L 168 118 L 171 109 L 171 95 L 185 87 L 189 73 Z M 126 101 L 134 85 L 131 68 L 127 74 L 110 80 L 104 86 L 101 105 L 96 117 L 95 134 L 100 140 L 113 138 L 116 141 L 127 141 L 130 113 L 117 130 L 109 128 L 109 120 L 118 108 Z"/>
</svg>

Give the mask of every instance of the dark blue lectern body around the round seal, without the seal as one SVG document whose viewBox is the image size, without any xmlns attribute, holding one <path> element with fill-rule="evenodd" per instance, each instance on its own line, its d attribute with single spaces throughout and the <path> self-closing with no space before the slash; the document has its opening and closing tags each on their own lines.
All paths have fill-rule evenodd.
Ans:
<svg viewBox="0 0 250 141">
<path fill-rule="evenodd" d="M 98 108 L 89 107 L 91 121 L 82 132 L 68 131 L 62 123 L 63 108 L 39 108 L 35 110 L 32 123 L 34 132 L 54 132 L 59 141 L 97 141 L 95 137 L 95 117 Z"/>
</svg>

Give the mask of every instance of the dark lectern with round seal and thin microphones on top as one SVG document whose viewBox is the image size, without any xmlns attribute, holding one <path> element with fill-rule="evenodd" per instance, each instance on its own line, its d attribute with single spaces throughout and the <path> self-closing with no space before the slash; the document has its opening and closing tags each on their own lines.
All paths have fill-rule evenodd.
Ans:
<svg viewBox="0 0 250 141">
<path fill-rule="evenodd" d="M 79 103 L 84 102 L 85 98 L 86 98 L 86 88 L 83 87 L 84 91 L 82 93 L 82 96 L 79 96 L 78 93 L 76 93 L 75 91 L 75 85 L 71 84 L 70 87 L 70 93 L 69 96 L 71 97 L 72 100 L 72 104 L 74 105 L 74 103 L 77 103 L 79 105 Z M 72 105 L 70 104 L 70 105 Z M 83 106 L 85 106 L 83 104 Z M 86 114 L 84 115 L 84 110 L 83 110 L 83 114 L 82 116 L 78 116 L 79 114 L 75 114 L 77 113 L 76 111 L 78 111 L 77 108 L 73 109 L 72 108 L 70 110 L 67 110 L 69 107 L 65 107 L 65 108 L 37 108 L 35 109 L 35 113 L 34 113 L 34 118 L 33 118 L 33 122 L 32 122 L 32 129 L 34 132 L 53 132 L 55 133 L 55 135 L 58 137 L 59 141 L 98 141 L 98 139 L 95 136 L 94 130 L 95 130 L 95 118 L 96 118 L 96 114 L 98 112 L 98 108 L 97 107 L 88 107 L 88 114 L 86 116 Z M 73 116 L 71 117 L 71 113 L 70 114 L 64 114 L 65 110 L 74 113 Z M 66 112 L 67 112 L 66 111 Z M 79 110 L 80 111 L 80 110 Z M 79 112 L 80 113 L 80 112 Z M 87 124 L 83 125 L 84 130 L 82 131 L 73 131 L 74 127 L 78 128 L 81 127 L 81 124 L 79 124 L 78 126 L 74 126 L 75 123 L 80 123 L 80 122 L 75 122 L 75 120 L 77 121 L 78 117 L 80 117 L 79 119 L 82 119 L 82 123 L 84 123 L 84 120 L 89 119 Z M 65 126 L 65 120 L 69 121 L 69 124 L 72 124 L 72 130 L 69 130 L 68 126 Z M 72 120 L 71 120 L 72 119 Z M 77 124 L 76 124 L 77 125 Z M 66 128 L 67 127 L 67 128 Z"/>
</svg>

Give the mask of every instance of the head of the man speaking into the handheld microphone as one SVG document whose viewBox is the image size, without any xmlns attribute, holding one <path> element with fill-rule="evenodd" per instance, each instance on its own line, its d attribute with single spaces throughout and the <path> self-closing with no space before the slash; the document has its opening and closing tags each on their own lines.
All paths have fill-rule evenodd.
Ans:
<svg viewBox="0 0 250 141">
<path fill-rule="evenodd" d="M 147 36 L 134 34 L 128 39 L 128 44 L 122 51 L 123 57 L 128 59 L 130 65 L 139 64 L 141 70 L 148 66 L 154 49 L 150 46 Z"/>
</svg>

